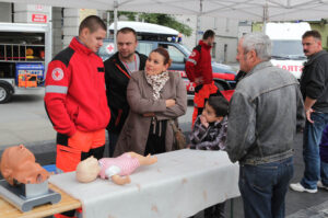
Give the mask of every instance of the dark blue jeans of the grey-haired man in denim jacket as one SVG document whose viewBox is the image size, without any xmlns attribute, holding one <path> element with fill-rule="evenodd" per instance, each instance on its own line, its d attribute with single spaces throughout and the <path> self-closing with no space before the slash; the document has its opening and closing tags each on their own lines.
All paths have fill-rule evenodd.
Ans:
<svg viewBox="0 0 328 218">
<path fill-rule="evenodd" d="M 293 177 L 293 158 L 258 165 L 241 165 L 239 191 L 244 216 L 284 218 L 284 197 Z"/>
</svg>

